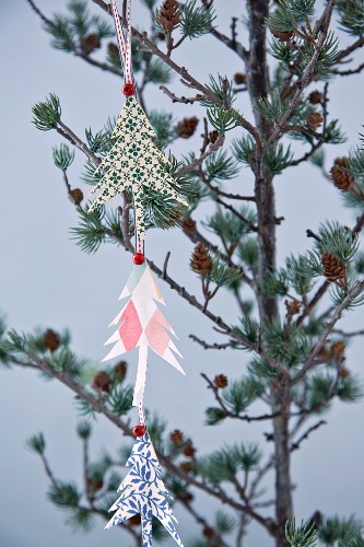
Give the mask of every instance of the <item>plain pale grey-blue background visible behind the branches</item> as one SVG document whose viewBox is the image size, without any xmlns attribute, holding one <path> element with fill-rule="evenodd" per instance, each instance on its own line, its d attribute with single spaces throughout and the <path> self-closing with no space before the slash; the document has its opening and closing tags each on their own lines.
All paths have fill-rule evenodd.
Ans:
<svg viewBox="0 0 364 547">
<path fill-rule="evenodd" d="M 40 1 L 39 5 L 50 15 L 63 9 L 63 1 Z M 230 16 L 236 15 L 236 2 L 216 0 L 222 28 L 228 33 Z M 243 2 L 242 2 L 243 4 Z M 48 36 L 39 28 L 39 21 L 21 0 L 0 3 L 1 8 L 1 199 L 0 290 L 1 310 L 7 313 L 9 325 L 31 331 L 36 325 L 72 333 L 72 348 L 80 354 L 98 361 L 104 357 L 103 344 L 109 336 L 107 324 L 119 310 L 117 298 L 130 271 L 130 258 L 121 249 L 105 245 L 93 256 L 83 254 L 71 241 L 69 228 L 75 225 L 77 214 L 69 203 L 61 174 L 52 164 L 51 146 L 60 139 L 55 132 L 42 133 L 31 124 L 32 105 L 56 92 L 62 106 L 62 119 L 83 138 L 84 127 L 98 130 L 108 116 L 118 114 L 122 105 L 119 92 L 121 81 L 104 74 L 72 56 L 49 47 Z M 92 8 L 99 12 L 97 8 Z M 243 11 L 243 9 L 242 9 Z M 141 2 L 133 2 L 133 23 L 143 27 L 145 10 Z M 240 35 L 246 30 L 240 27 Z M 186 65 L 201 81 L 219 70 L 228 77 L 244 71 L 237 57 L 213 40 L 200 38 L 186 42 L 176 59 Z M 345 153 L 349 144 L 356 142 L 363 115 L 362 77 L 336 82 L 330 94 L 329 110 L 340 117 L 348 143 L 331 147 L 328 165 L 336 155 Z M 171 85 L 177 93 L 187 94 L 177 78 Z M 169 101 L 155 86 L 146 93 L 148 107 L 172 110 Z M 242 112 L 251 119 L 247 98 L 237 102 Z M 176 118 L 198 114 L 196 106 L 174 106 Z M 200 126 L 201 127 L 201 126 Z M 200 129 L 199 127 L 199 129 Z M 197 131 L 199 136 L 200 130 Z M 199 140 L 195 140 L 196 147 Z M 176 142 L 174 152 L 181 153 L 193 147 L 193 141 Z M 72 186 L 79 186 L 81 153 L 70 168 Z M 82 183 L 80 184 L 82 187 Z M 251 191 L 247 170 L 231 183 L 232 191 L 244 188 Z M 84 188 L 85 193 L 87 188 Z M 289 252 L 303 252 L 307 246 L 306 228 L 315 229 L 319 221 L 330 218 L 352 223 L 340 196 L 324 181 L 313 166 L 287 170 L 277 179 L 278 213 L 285 221 L 279 228 L 279 256 Z M 202 212 L 208 209 L 204 208 Z M 199 294 L 199 283 L 186 267 L 191 251 L 190 243 L 177 231 L 153 232 L 148 238 L 148 255 L 162 264 L 172 251 L 169 272 L 181 284 Z M 262 431 L 269 424 L 251 427 L 245 423 L 226 423 L 218 428 L 203 428 L 203 409 L 212 403 L 200 377 L 204 371 L 210 376 L 224 372 L 230 377 L 239 376 L 245 370 L 244 352 L 204 352 L 191 340 L 195 333 L 208 340 L 216 340 L 209 322 L 196 310 L 178 299 L 160 282 L 167 302 L 167 317 L 179 335 L 187 376 L 181 377 L 161 361 L 150 366 L 146 401 L 168 419 L 171 429 L 180 428 L 192 435 L 200 454 L 218 447 L 221 439 L 258 440 L 265 446 Z M 218 295 L 212 309 L 225 321 L 236 321 L 237 310 L 223 293 Z M 363 326 L 363 312 L 348 314 L 343 324 L 348 328 Z M 128 380 L 133 381 L 134 354 L 128 357 Z M 352 371 L 362 372 L 363 345 L 352 344 L 348 351 Z M 302 450 L 293 456 L 293 477 L 296 485 L 295 513 L 298 519 L 309 516 L 320 509 L 326 514 L 363 516 L 363 409 L 364 405 L 334 403 L 328 415 L 329 424 L 314 433 Z M 73 535 L 64 525 L 64 515 L 46 501 L 48 481 L 38 458 L 25 449 L 25 439 L 43 431 L 47 439 L 47 453 L 57 477 L 80 479 L 81 445 L 74 432 L 78 421 L 74 398 L 57 383 L 45 383 L 31 371 L 13 370 L 1 373 L 0 398 L 0 545 L 2 547 L 48 547 L 101 545 L 131 545 L 129 537 L 118 529 L 103 532 L 97 521 L 87 535 Z M 92 453 L 99 454 L 103 446 L 110 450 L 124 440 L 106 420 L 94 426 Z M 202 510 L 211 508 L 203 496 L 198 500 Z M 191 539 L 191 521 L 176 507 L 179 531 L 188 546 Z M 165 545 L 174 545 L 166 542 Z M 271 540 L 253 525 L 247 547 L 268 547 Z"/>
</svg>

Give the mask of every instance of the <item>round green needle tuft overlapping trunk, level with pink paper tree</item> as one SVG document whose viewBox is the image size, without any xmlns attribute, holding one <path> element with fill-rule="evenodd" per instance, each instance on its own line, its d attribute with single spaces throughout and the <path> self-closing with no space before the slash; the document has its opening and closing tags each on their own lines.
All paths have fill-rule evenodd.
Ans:
<svg viewBox="0 0 364 547">
<path fill-rule="evenodd" d="M 263 347 L 271 358 L 291 368 L 305 360 L 310 345 L 301 329 L 291 326 L 287 331 L 273 321 L 263 329 Z"/>
</svg>

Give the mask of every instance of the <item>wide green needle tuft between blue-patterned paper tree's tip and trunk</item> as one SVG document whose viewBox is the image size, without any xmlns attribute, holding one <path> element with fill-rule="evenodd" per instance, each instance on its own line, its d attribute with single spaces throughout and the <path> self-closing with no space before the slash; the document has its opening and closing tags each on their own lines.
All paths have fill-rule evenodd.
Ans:
<svg viewBox="0 0 364 547">
<path fill-rule="evenodd" d="M 261 452 L 257 444 L 234 444 L 224 446 L 197 462 L 197 473 L 212 486 L 234 482 L 239 470 L 251 472 L 260 462 Z"/>
</svg>

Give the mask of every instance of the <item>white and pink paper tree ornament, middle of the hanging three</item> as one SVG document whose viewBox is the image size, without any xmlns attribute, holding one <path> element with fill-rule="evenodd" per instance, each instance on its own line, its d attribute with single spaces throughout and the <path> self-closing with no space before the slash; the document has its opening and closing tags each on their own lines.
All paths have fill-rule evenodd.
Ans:
<svg viewBox="0 0 364 547">
<path fill-rule="evenodd" d="M 133 396 L 133 405 L 138 406 L 145 385 L 149 348 L 179 372 L 183 374 L 185 372 L 174 354 L 175 352 L 181 357 L 169 336 L 169 334 L 175 335 L 175 333 L 156 304 L 158 302 L 165 305 L 146 261 L 133 267 L 119 300 L 127 296 L 129 296 L 127 304 L 109 325 L 119 326 L 105 342 L 105 345 L 115 342 L 115 346 L 103 361 L 139 348 Z"/>
</svg>

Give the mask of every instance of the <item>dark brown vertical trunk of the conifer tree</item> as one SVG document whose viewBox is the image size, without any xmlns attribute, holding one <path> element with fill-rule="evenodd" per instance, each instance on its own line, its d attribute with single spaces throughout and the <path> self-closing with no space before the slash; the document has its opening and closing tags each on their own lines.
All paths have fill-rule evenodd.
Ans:
<svg viewBox="0 0 364 547">
<path fill-rule="evenodd" d="M 267 36 L 265 21 L 268 16 L 269 0 L 247 0 L 249 15 L 249 55 L 247 60 L 247 86 L 251 103 L 261 96 L 267 96 L 270 91 L 269 71 L 267 65 Z M 256 125 L 262 140 L 272 132 L 270 120 L 263 118 L 255 110 Z M 275 269 L 275 200 L 272 176 L 262 171 L 263 175 L 256 173 L 255 197 L 257 200 L 259 226 L 259 267 L 258 282 L 262 286 L 267 271 Z M 260 289 L 259 289 L 260 290 Z M 260 290 L 261 291 L 261 290 Z M 258 298 L 260 323 L 267 325 L 278 317 L 277 298 L 266 296 L 260 292 Z M 275 520 L 278 529 L 275 546 L 285 547 L 287 542 L 284 536 L 285 522 L 292 516 L 292 496 L 290 476 L 290 439 L 289 439 L 289 410 L 284 382 L 277 382 L 271 386 L 272 411 L 282 411 L 273 420 L 273 440 L 275 454 Z"/>
</svg>

